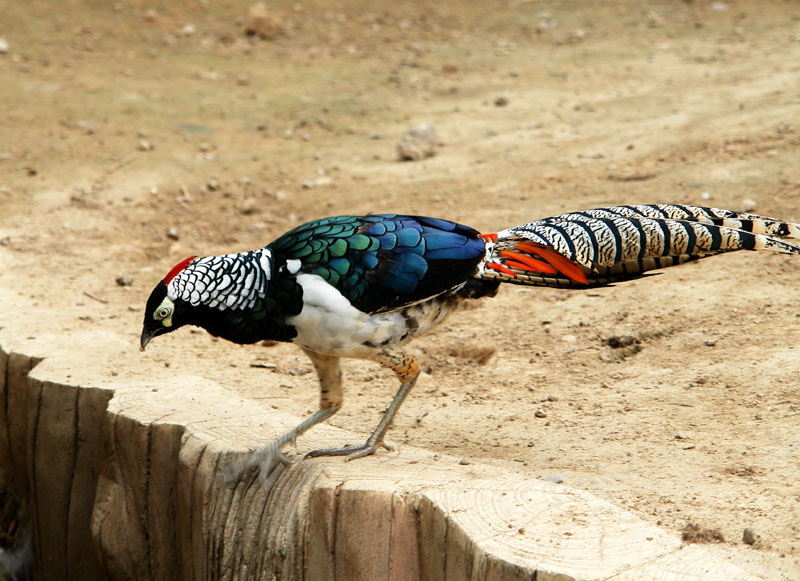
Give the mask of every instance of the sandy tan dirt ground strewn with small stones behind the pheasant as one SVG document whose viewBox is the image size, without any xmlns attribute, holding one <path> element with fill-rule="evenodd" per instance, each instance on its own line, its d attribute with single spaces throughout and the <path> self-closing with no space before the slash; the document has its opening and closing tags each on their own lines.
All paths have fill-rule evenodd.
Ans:
<svg viewBox="0 0 800 581">
<path fill-rule="evenodd" d="M 280 0 L 271 39 L 245 35 L 249 5 L 6 3 L 0 287 L 31 341 L 106 328 L 130 348 L 75 346 L 100 376 L 198 373 L 305 416 L 316 379 L 291 345 L 185 330 L 138 351 L 170 266 L 345 213 L 495 231 L 676 202 L 800 221 L 796 2 Z M 398 161 L 423 122 L 436 156 Z M 740 253 L 504 288 L 412 344 L 424 375 L 388 439 L 718 531 L 711 550 L 800 579 L 798 282 L 800 260 Z M 330 423 L 366 434 L 396 382 L 345 373 Z"/>
</svg>

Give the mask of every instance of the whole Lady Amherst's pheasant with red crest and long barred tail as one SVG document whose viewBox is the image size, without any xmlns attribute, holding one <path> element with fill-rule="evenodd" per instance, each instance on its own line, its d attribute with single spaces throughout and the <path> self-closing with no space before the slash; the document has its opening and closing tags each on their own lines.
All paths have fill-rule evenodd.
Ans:
<svg viewBox="0 0 800 581">
<path fill-rule="evenodd" d="M 262 476 L 281 449 L 342 406 L 342 357 L 391 369 L 400 388 L 360 446 L 309 456 L 366 456 L 383 441 L 419 375 L 399 349 L 460 302 L 501 282 L 583 289 L 733 250 L 800 254 L 800 225 L 695 206 L 638 205 L 544 218 L 493 234 L 422 216 L 337 216 L 303 224 L 258 250 L 190 257 L 147 301 L 142 349 L 183 325 L 235 343 L 297 344 L 320 381 L 319 411 L 262 451 Z"/>
</svg>

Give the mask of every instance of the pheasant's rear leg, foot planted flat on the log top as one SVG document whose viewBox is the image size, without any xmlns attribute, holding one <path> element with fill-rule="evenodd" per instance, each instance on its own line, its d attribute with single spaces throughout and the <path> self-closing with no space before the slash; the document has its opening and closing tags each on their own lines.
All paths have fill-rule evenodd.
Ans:
<svg viewBox="0 0 800 581">
<path fill-rule="evenodd" d="M 386 435 L 386 431 L 392 424 L 392 420 L 394 419 L 394 415 L 397 413 L 397 410 L 399 410 L 400 406 L 403 405 L 403 401 L 406 399 L 408 392 L 411 391 L 411 388 L 414 387 L 414 384 L 417 382 L 417 377 L 419 376 L 419 363 L 410 355 L 396 353 L 394 351 L 381 351 L 377 355 L 373 356 L 372 359 L 384 367 L 388 367 L 394 371 L 395 375 L 397 375 L 397 378 L 400 380 L 400 388 L 397 390 L 392 403 L 389 404 L 389 407 L 384 412 L 381 421 L 378 423 L 378 427 L 376 427 L 375 431 L 372 432 L 372 435 L 367 438 L 367 441 L 360 446 L 346 446 L 343 448 L 314 450 L 313 452 L 306 454 L 306 458 L 314 456 L 347 455 L 345 460 L 354 460 L 356 458 L 361 458 L 362 456 L 374 454 L 378 449 L 378 446 L 383 446 L 388 450 L 393 449 L 391 445 L 383 441 L 383 437 Z"/>
</svg>

